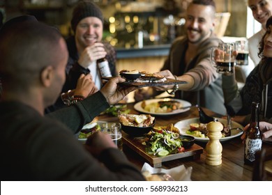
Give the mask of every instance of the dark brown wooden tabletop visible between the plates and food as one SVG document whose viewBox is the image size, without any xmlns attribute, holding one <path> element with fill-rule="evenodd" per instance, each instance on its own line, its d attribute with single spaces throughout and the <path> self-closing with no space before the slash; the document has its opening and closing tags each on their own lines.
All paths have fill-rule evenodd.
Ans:
<svg viewBox="0 0 272 195">
<path fill-rule="evenodd" d="M 131 109 L 131 113 L 139 114 L 133 109 L 133 104 L 128 104 Z M 204 109 L 206 114 L 210 116 L 216 116 L 215 113 Z M 174 116 L 156 116 L 156 125 L 167 125 L 169 123 L 176 123 L 179 120 L 184 120 L 187 118 L 195 118 L 198 116 L 198 111 L 196 108 L 190 109 L 182 114 L 177 114 Z M 118 121 L 116 117 L 109 116 L 99 116 L 99 120 L 104 121 Z M 186 157 L 182 159 L 175 159 L 169 162 L 163 162 L 162 168 L 171 169 L 175 166 L 184 164 L 184 166 L 192 166 L 192 180 L 208 180 L 208 181 L 220 181 L 220 180 L 236 180 L 236 181 L 247 181 L 252 180 L 252 170 L 253 167 L 245 165 L 243 163 L 243 153 L 244 146 L 241 142 L 240 137 L 236 137 L 229 141 L 222 143 L 222 164 L 219 166 L 209 166 L 205 164 L 206 159 L 206 143 L 196 142 L 199 146 L 204 148 L 203 153 L 200 155 L 199 159 L 192 159 L 192 157 Z M 272 152 L 272 146 L 269 143 L 263 143 L 263 148 Z M 134 150 L 128 148 L 123 144 L 123 153 L 126 154 L 130 162 L 133 162 L 139 169 L 142 169 L 144 162 L 147 162 L 144 157 L 137 154 Z M 272 180 L 272 176 L 268 176 L 268 180 Z"/>
</svg>

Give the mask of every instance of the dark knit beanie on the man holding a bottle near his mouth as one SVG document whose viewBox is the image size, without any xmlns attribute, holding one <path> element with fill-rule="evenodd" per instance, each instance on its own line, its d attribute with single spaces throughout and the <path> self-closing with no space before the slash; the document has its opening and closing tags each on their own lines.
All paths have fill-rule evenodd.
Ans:
<svg viewBox="0 0 272 195">
<path fill-rule="evenodd" d="M 79 1 L 73 10 L 71 20 L 71 26 L 74 32 L 77 24 L 85 17 L 98 17 L 102 23 L 104 22 L 103 13 L 95 3 L 91 1 Z"/>
</svg>

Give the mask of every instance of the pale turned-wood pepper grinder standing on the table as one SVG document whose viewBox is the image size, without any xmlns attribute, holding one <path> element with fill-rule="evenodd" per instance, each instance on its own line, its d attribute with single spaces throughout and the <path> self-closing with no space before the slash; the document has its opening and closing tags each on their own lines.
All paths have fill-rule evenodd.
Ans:
<svg viewBox="0 0 272 195">
<path fill-rule="evenodd" d="M 209 142 L 206 145 L 206 164 L 217 166 L 222 164 L 222 144 L 219 139 L 222 137 L 223 125 L 220 122 L 212 121 L 206 126 Z"/>
</svg>

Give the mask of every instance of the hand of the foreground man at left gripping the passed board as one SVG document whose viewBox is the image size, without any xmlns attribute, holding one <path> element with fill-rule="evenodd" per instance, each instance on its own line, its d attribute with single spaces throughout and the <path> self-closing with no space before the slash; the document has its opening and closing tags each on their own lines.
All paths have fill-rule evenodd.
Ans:
<svg viewBox="0 0 272 195">
<path fill-rule="evenodd" d="M 101 93 L 105 96 L 107 99 L 107 102 L 109 104 L 116 104 L 120 100 L 123 100 L 123 98 L 128 95 L 128 93 L 135 91 L 137 88 L 135 86 L 119 86 L 119 83 L 122 83 L 126 81 L 126 79 L 123 79 L 121 77 L 114 77 L 110 79 L 103 88 L 101 88 Z"/>
</svg>

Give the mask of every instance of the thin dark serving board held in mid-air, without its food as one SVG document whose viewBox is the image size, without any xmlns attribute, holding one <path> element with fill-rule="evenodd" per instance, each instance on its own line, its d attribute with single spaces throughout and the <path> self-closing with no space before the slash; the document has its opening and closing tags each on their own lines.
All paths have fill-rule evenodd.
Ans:
<svg viewBox="0 0 272 195">
<path fill-rule="evenodd" d="M 103 77 L 102 79 L 109 80 L 112 77 Z M 142 88 L 146 86 L 165 86 L 165 85 L 174 85 L 174 84 L 187 84 L 186 81 L 180 81 L 176 79 L 167 79 L 163 82 L 135 82 L 135 81 L 124 81 L 123 83 L 120 83 L 121 85 L 125 86 L 136 86 L 137 88 Z"/>
</svg>

